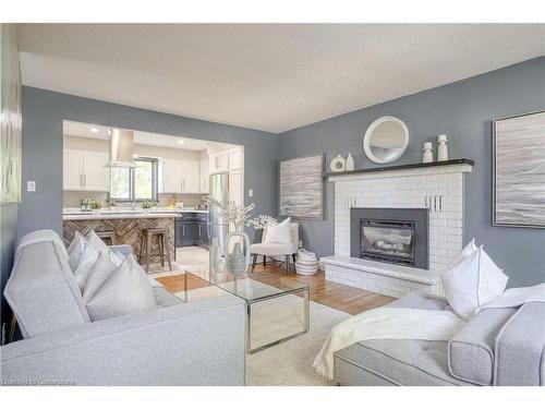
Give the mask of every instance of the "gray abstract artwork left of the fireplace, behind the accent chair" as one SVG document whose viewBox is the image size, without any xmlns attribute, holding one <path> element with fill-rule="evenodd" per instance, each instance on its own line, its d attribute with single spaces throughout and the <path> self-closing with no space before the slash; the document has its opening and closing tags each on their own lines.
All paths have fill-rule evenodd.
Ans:
<svg viewBox="0 0 545 409">
<path fill-rule="evenodd" d="M 279 164 L 279 215 L 298 219 L 324 218 L 324 154 Z"/>
</svg>

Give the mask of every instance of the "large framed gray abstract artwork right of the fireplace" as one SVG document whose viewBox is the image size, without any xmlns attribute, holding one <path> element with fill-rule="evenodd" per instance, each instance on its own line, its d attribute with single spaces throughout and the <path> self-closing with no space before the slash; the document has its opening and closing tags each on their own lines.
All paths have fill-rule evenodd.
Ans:
<svg viewBox="0 0 545 409">
<path fill-rule="evenodd" d="M 545 228 L 545 111 L 493 125 L 493 225 Z"/>
</svg>

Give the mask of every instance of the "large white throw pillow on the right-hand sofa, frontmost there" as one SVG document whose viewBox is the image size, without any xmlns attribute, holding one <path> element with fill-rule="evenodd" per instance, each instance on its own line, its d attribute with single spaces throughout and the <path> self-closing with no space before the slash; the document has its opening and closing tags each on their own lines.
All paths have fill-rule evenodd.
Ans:
<svg viewBox="0 0 545 409">
<path fill-rule="evenodd" d="M 508 277 L 480 246 L 441 276 L 445 296 L 452 310 L 470 320 L 481 305 L 500 296 Z"/>
</svg>

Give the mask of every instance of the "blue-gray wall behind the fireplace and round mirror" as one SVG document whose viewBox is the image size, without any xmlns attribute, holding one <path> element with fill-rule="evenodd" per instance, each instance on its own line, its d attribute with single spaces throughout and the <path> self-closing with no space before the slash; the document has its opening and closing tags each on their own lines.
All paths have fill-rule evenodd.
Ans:
<svg viewBox="0 0 545 409">
<path fill-rule="evenodd" d="M 464 81 L 342 115 L 279 136 L 279 159 L 352 153 L 356 168 L 376 167 L 363 154 L 362 135 L 373 120 L 405 121 L 411 140 L 396 165 L 422 160 L 424 141 L 449 135 L 449 156 L 475 160 L 467 176 L 464 241 L 476 238 L 510 277 L 509 285 L 545 280 L 545 229 L 492 226 L 492 120 L 545 109 L 545 57 Z M 334 252 L 332 183 L 326 183 L 326 219 L 303 221 L 304 245 L 318 255 Z"/>
</svg>

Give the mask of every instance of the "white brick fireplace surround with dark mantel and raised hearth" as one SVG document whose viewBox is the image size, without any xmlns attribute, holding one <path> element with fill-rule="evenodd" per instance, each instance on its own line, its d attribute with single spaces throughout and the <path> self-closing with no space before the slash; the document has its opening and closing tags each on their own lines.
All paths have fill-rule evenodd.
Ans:
<svg viewBox="0 0 545 409">
<path fill-rule="evenodd" d="M 393 297 L 414 289 L 441 292 L 437 272 L 462 249 L 464 175 L 471 172 L 472 163 L 390 169 L 329 175 L 335 183 L 335 256 L 323 257 L 326 279 Z M 427 207 L 429 270 L 351 260 L 352 207 Z"/>
</svg>

